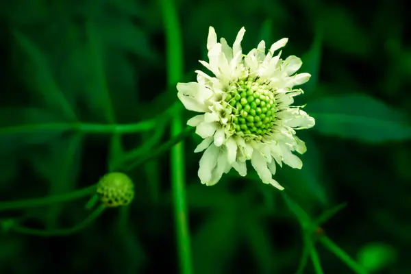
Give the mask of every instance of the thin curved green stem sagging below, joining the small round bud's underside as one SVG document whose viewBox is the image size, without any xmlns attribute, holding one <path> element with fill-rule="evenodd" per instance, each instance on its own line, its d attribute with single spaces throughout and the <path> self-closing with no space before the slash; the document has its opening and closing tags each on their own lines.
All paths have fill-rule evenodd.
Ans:
<svg viewBox="0 0 411 274">
<path fill-rule="evenodd" d="M 76 232 L 79 232 L 80 230 L 90 225 L 92 221 L 97 219 L 104 212 L 104 210 L 105 210 L 105 206 L 99 206 L 86 219 L 84 219 L 84 221 L 70 228 L 42 230 L 42 229 L 33 229 L 29 227 L 22 227 L 19 225 L 14 225 L 10 229 L 13 232 L 17 232 L 17 233 L 29 234 L 29 235 L 34 235 L 34 236 L 42 236 L 42 237 L 67 236 L 67 235 L 75 234 Z"/>
</svg>

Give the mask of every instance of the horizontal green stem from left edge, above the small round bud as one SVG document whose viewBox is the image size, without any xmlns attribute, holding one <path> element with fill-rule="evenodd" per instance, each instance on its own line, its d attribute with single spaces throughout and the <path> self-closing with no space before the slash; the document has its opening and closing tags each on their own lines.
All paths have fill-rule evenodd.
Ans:
<svg viewBox="0 0 411 274">
<path fill-rule="evenodd" d="M 86 134 L 132 134 L 136 132 L 145 132 L 153 129 L 156 125 L 155 119 L 142 121 L 132 124 L 95 124 L 95 123 L 44 123 L 32 125 L 16 125 L 13 127 L 0 128 L 0 135 L 5 134 L 25 134 L 28 132 L 62 132 L 77 131 Z"/>
</svg>

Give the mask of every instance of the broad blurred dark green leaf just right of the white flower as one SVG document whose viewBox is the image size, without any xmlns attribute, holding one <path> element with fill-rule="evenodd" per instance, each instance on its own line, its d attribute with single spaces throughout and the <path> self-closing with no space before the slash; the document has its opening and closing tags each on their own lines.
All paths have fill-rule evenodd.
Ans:
<svg viewBox="0 0 411 274">
<path fill-rule="evenodd" d="M 340 95 L 311 101 L 307 112 L 316 119 L 321 134 L 366 142 L 411 138 L 405 116 L 368 95 Z"/>
</svg>

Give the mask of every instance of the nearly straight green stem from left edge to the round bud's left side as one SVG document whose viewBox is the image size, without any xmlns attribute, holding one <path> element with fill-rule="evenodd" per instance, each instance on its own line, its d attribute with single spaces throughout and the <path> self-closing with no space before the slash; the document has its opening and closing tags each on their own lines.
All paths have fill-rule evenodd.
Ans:
<svg viewBox="0 0 411 274">
<path fill-rule="evenodd" d="M 72 201 L 80 199 L 89 195 L 92 195 L 96 190 L 96 185 L 88 186 L 73 192 L 69 192 L 61 195 L 47 196 L 44 198 L 24 199 L 17 201 L 5 201 L 0 203 L 0 211 L 4 210 L 18 210 L 21 208 L 37 208 L 40 206 L 47 206 L 51 203 L 63 203 L 66 201 Z"/>
</svg>

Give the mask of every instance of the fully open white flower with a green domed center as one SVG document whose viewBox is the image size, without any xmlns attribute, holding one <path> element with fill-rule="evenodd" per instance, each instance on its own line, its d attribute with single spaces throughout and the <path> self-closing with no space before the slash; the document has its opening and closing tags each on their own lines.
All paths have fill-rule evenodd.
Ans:
<svg viewBox="0 0 411 274">
<path fill-rule="evenodd" d="M 303 163 L 292 151 L 304 153 L 306 145 L 295 129 L 315 124 L 300 107 L 290 106 L 293 97 L 303 93 L 293 87 L 307 82 L 310 74 L 295 74 L 302 64 L 296 56 L 282 60 L 281 51 L 274 55 L 287 38 L 275 42 L 267 53 L 261 41 L 257 49 L 243 55 L 244 34 L 242 27 L 231 48 L 224 38 L 217 42 L 210 27 L 209 62 L 200 63 L 214 75 L 196 71 L 197 82 L 177 84 L 177 95 L 186 109 L 202 113 L 187 123 L 203 138 L 195 149 L 205 150 L 198 172 L 202 184 L 216 184 L 232 168 L 245 176 L 246 161 L 251 160 L 262 182 L 283 190 L 273 179 L 276 164 L 301 169 Z"/>
</svg>

